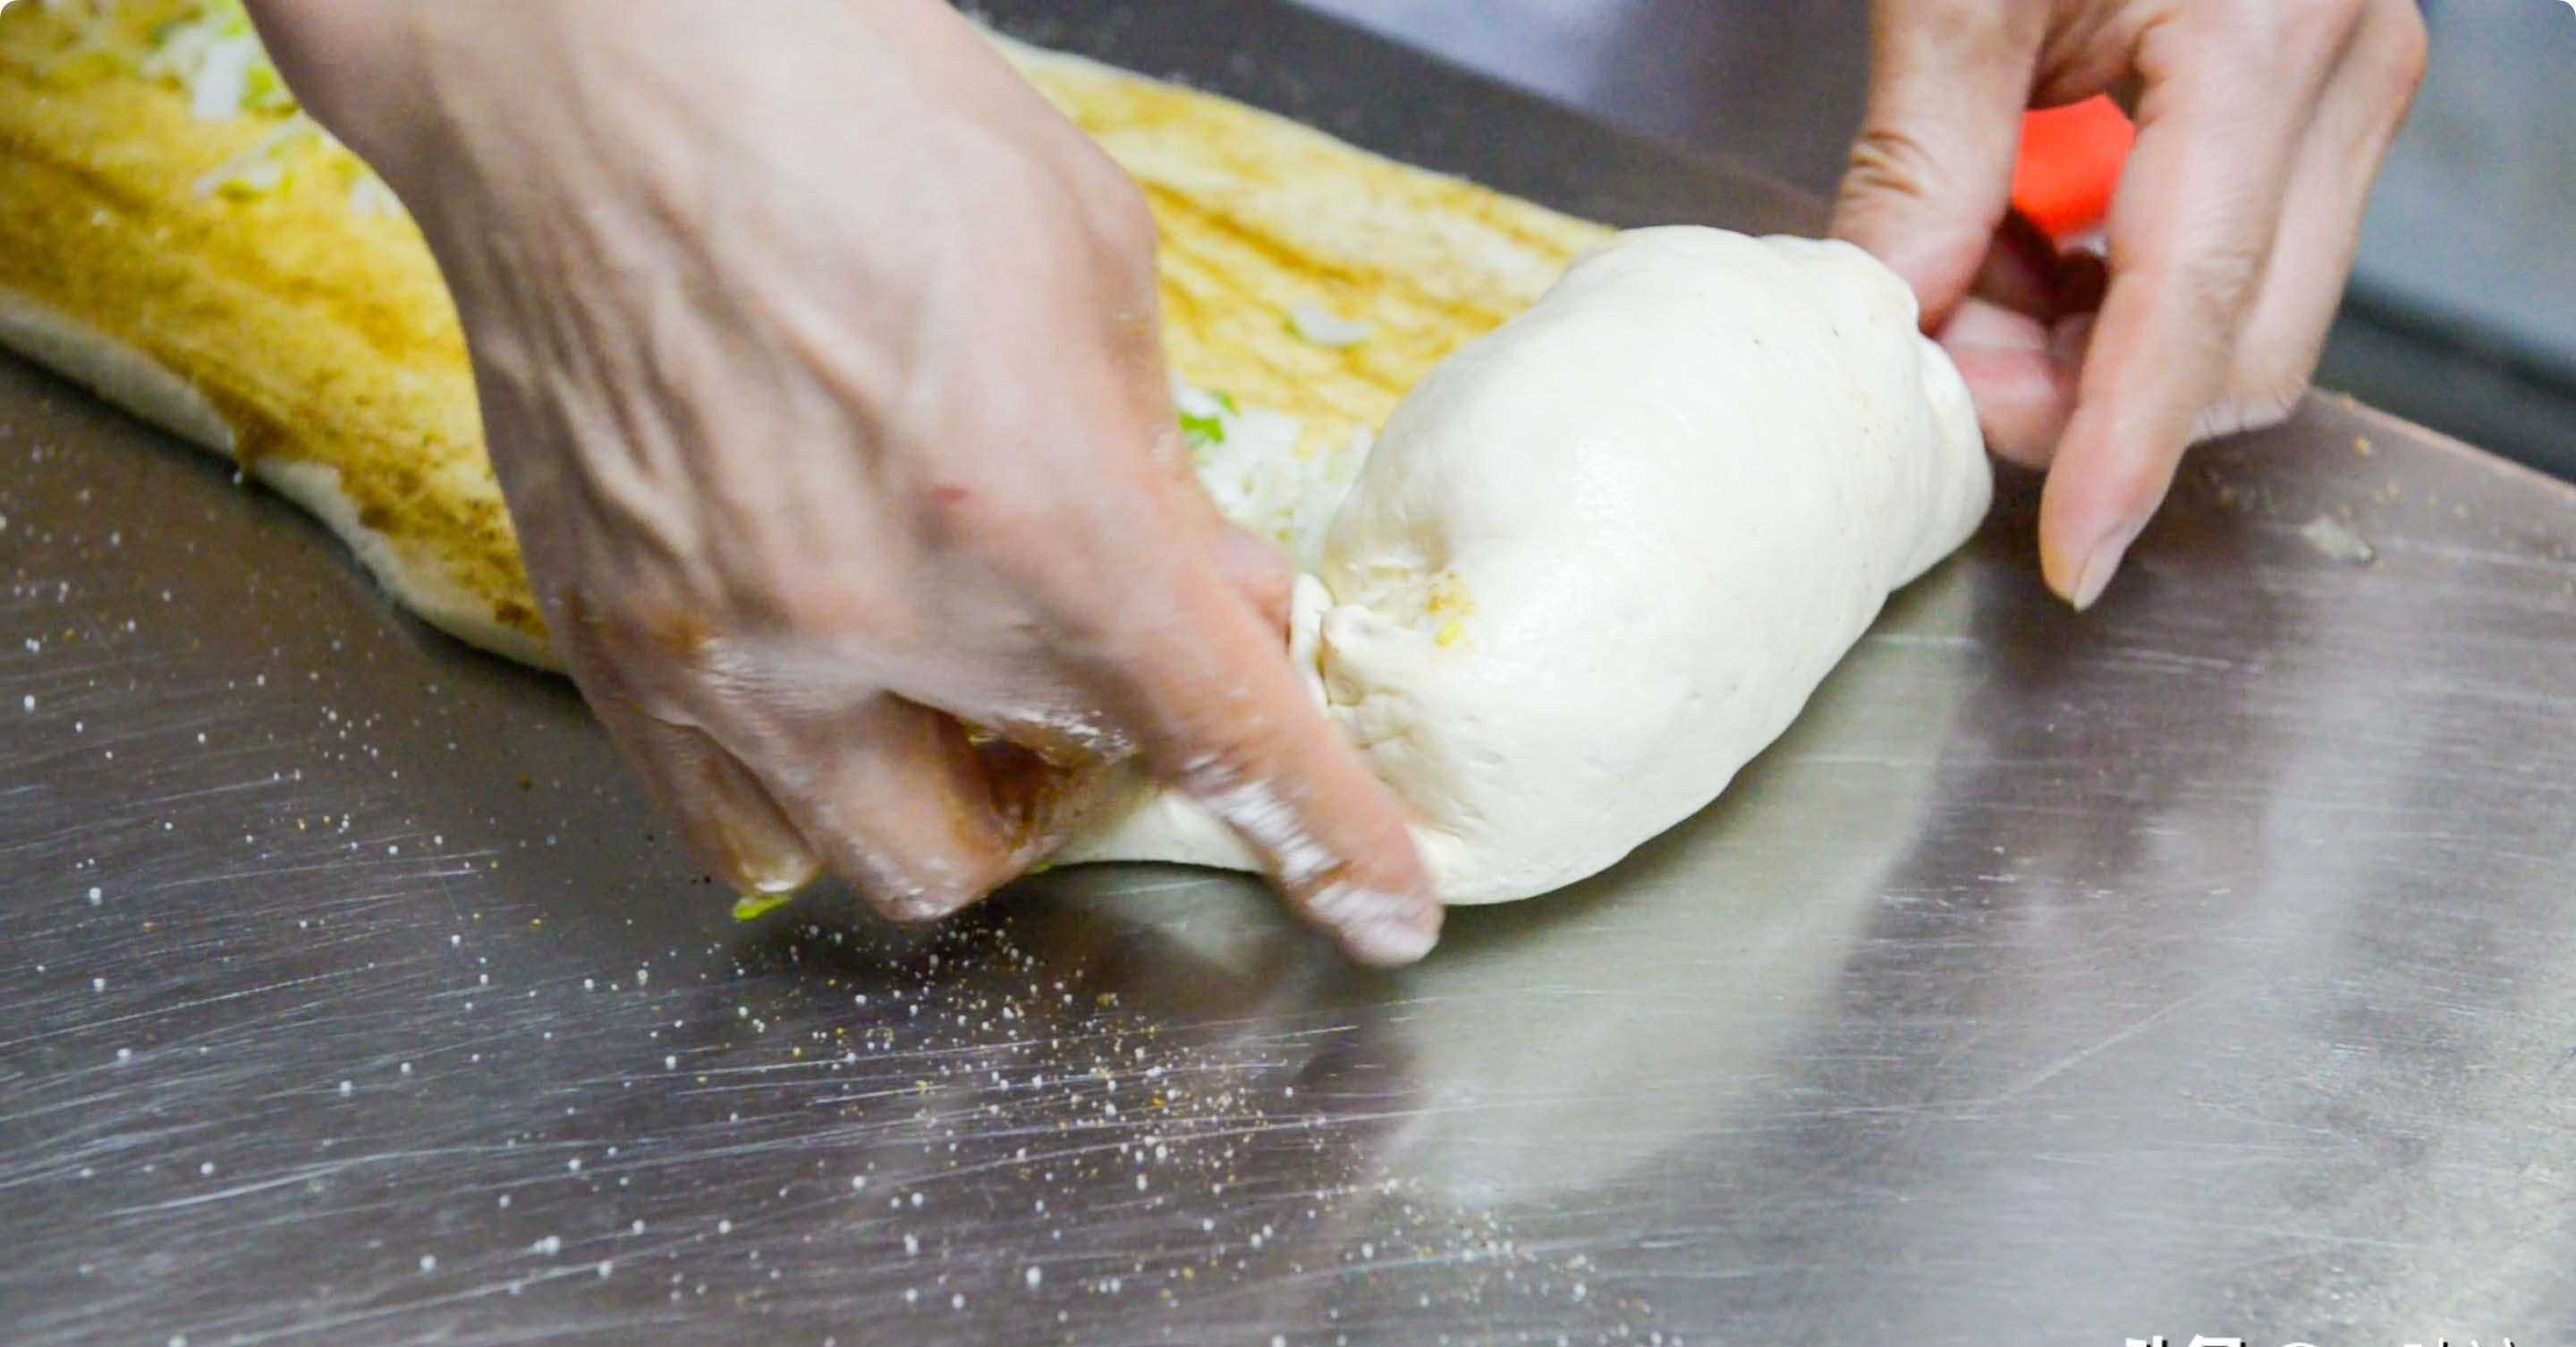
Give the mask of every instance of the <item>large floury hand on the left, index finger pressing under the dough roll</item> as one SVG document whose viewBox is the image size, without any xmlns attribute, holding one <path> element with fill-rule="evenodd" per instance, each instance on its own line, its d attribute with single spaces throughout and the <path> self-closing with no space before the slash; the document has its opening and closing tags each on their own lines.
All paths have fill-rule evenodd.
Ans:
<svg viewBox="0 0 2576 1347">
<path fill-rule="evenodd" d="M 703 865 L 943 917 L 1141 755 L 1352 958 L 1432 945 L 1190 479 L 1141 193 L 943 3 L 258 18 L 415 209 L 556 649 Z"/>
</svg>

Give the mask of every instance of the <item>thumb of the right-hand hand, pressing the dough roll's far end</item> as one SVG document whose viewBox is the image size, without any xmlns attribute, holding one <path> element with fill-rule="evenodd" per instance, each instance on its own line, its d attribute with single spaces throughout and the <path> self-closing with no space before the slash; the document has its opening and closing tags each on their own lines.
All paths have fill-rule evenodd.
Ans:
<svg viewBox="0 0 2576 1347">
<path fill-rule="evenodd" d="M 1927 332 L 1968 294 L 2004 224 L 2045 5 L 1976 13 L 1873 8 L 1870 100 L 1834 201 L 1834 237 L 1906 278 Z"/>
</svg>

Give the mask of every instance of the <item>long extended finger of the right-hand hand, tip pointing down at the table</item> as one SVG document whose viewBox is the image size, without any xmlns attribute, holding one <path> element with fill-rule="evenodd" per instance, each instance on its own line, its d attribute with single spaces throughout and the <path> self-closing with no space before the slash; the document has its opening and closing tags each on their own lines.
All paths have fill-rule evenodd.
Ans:
<svg viewBox="0 0 2576 1347">
<path fill-rule="evenodd" d="M 2040 495 L 2040 572 L 2076 608 L 2110 585 L 2221 391 L 2293 149 L 2342 46 L 2277 26 L 2210 28 L 2257 10 L 2269 15 L 2192 10 L 2200 26 L 2174 21 L 2138 46 L 2146 93 L 2112 196 L 2112 281 Z"/>
</svg>

